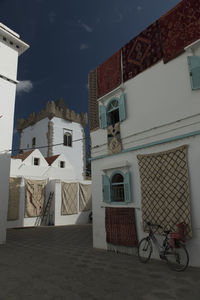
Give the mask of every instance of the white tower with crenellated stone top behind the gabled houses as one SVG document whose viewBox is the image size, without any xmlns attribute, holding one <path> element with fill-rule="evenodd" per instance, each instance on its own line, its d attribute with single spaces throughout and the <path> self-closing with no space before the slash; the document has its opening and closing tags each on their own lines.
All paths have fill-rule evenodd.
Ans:
<svg viewBox="0 0 200 300">
<path fill-rule="evenodd" d="M 85 178 L 85 133 L 87 114 L 69 110 L 63 100 L 48 102 L 37 115 L 18 120 L 20 149 L 40 148 L 44 157 L 63 154 L 75 168 L 76 179 Z"/>
</svg>

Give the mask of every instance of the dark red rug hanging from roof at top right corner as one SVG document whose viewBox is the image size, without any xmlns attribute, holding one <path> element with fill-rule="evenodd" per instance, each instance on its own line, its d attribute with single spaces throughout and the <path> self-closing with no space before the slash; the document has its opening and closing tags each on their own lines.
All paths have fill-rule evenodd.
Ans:
<svg viewBox="0 0 200 300">
<path fill-rule="evenodd" d="M 200 38 L 200 0 L 183 0 L 159 20 L 163 60 L 167 63 Z"/>
</svg>

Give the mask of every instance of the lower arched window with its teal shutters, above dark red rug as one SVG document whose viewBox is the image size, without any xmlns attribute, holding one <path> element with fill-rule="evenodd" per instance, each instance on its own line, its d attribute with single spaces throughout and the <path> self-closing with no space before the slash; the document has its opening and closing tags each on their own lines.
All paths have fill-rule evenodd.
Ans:
<svg viewBox="0 0 200 300">
<path fill-rule="evenodd" d="M 132 202 L 130 172 L 114 171 L 111 176 L 102 175 L 103 201 L 111 204 Z"/>
</svg>

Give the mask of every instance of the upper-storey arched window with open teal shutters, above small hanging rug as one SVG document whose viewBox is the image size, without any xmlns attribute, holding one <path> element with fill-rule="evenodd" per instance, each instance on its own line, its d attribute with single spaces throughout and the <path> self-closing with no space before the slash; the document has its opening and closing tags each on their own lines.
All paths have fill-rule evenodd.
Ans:
<svg viewBox="0 0 200 300">
<path fill-rule="evenodd" d="M 112 98 L 106 106 L 99 106 L 100 127 L 107 128 L 126 119 L 125 94 Z"/>
</svg>

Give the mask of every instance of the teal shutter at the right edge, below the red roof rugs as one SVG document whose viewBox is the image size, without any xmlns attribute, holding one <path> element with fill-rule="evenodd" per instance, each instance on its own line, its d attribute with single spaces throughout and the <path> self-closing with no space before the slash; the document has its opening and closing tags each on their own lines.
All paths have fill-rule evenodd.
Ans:
<svg viewBox="0 0 200 300">
<path fill-rule="evenodd" d="M 193 90 L 200 89 L 200 56 L 188 56 L 190 81 Z"/>
</svg>

